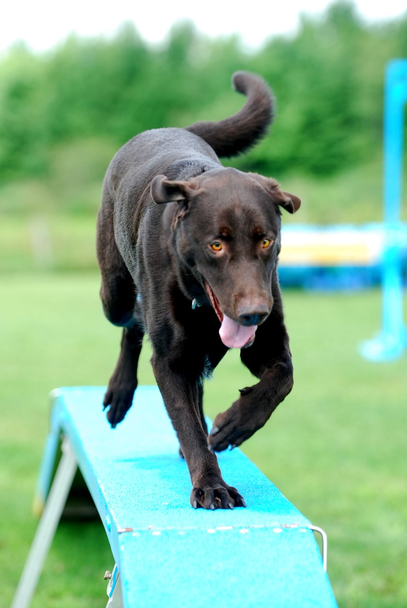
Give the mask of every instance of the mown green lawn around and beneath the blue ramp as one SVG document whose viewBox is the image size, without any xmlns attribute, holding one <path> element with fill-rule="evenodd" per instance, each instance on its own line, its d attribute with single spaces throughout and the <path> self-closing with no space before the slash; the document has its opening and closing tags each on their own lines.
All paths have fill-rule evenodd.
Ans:
<svg viewBox="0 0 407 608">
<path fill-rule="evenodd" d="M 0 563 L 9 605 L 37 525 L 31 503 L 46 437 L 47 393 L 105 384 L 120 331 L 102 316 L 96 274 L 16 274 L 0 280 Z M 407 605 L 406 358 L 357 353 L 380 324 L 380 292 L 287 291 L 293 392 L 243 449 L 328 534 L 341 608 Z M 206 386 L 206 411 L 226 409 L 252 380 L 232 352 Z M 144 349 L 139 379 L 153 382 Z M 232 482 L 232 480 L 228 480 Z M 188 500 L 188 497 L 185 497 Z M 63 523 L 33 608 L 106 603 L 113 566 L 100 523 Z"/>
</svg>

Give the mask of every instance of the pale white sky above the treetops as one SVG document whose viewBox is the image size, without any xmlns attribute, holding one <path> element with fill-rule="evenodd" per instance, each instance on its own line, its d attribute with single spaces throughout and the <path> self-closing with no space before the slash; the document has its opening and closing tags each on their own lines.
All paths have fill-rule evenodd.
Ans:
<svg viewBox="0 0 407 608">
<path fill-rule="evenodd" d="M 0 51 L 17 40 L 33 50 L 46 50 L 71 32 L 111 35 L 123 21 L 133 21 L 142 38 L 159 42 L 175 21 L 192 19 L 210 36 L 240 33 L 243 42 L 259 46 L 276 33 L 293 32 L 301 13 L 318 14 L 329 0 L 9 0 L 0 18 Z M 406 0 L 355 0 L 367 21 L 390 19 L 407 12 Z"/>
</svg>

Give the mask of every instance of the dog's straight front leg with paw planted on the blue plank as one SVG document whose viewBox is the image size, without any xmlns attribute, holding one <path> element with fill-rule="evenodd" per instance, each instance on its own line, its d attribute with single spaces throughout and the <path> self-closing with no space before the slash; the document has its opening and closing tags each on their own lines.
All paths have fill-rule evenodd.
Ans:
<svg viewBox="0 0 407 608">
<path fill-rule="evenodd" d="M 200 420 L 199 381 L 189 381 L 173 371 L 167 359 L 153 355 L 151 364 L 189 469 L 191 505 L 195 509 L 246 506 L 237 489 L 224 482 L 217 457 L 208 449 Z"/>
</svg>

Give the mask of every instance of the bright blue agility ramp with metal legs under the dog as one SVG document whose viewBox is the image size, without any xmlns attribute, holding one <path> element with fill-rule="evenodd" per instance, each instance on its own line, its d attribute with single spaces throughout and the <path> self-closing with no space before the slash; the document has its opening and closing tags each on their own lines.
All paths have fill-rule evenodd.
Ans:
<svg viewBox="0 0 407 608">
<path fill-rule="evenodd" d="M 112 430 L 103 387 L 52 393 L 38 479 L 44 506 L 12 608 L 27 608 L 77 466 L 105 527 L 116 565 L 110 608 L 335 608 L 325 572 L 326 536 L 239 450 L 219 455 L 247 508 L 194 510 L 190 478 L 156 387 L 138 387 L 126 421 Z M 63 455 L 53 477 L 60 437 Z M 52 481 L 52 478 L 54 479 Z M 321 531 L 322 558 L 314 537 Z M 200 599 L 198 599 L 200 598 Z"/>
</svg>

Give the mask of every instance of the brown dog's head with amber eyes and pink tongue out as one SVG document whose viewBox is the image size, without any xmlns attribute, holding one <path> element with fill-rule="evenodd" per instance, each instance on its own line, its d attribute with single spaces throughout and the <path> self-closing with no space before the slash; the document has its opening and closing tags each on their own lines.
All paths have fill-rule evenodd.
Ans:
<svg viewBox="0 0 407 608">
<path fill-rule="evenodd" d="M 233 168 L 187 181 L 159 175 L 151 182 L 157 203 L 175 201 L 175 247 L 182 266 L 200 283 L 228 347 L 252 344 L 271 313 L 271 277 L 280 252 L 280 209 L 301 201 L 274 179 Z"/>
</svg>

